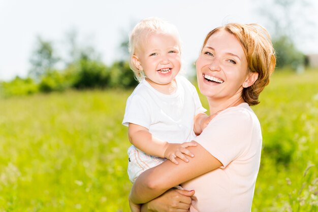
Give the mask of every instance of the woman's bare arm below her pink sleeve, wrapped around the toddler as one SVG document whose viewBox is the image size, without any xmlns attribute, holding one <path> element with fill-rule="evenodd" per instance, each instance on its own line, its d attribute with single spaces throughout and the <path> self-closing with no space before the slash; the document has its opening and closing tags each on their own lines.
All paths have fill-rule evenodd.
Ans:
<svg viewBox="0 0 318 212">
<path fill-rule="evenodd" d="M 180 159 L 177 159 L 179 165 L 165 161 L 140 174 L 131 190 L 130 201 L 135 204 L 148 202 L 170 188 L 222 165 L 200 144 L 197 144 L 197 147 L 189 147 L 188 149 L 195 155 L 194 158 L 189 158 L 188 163 Z"/>
</svg>

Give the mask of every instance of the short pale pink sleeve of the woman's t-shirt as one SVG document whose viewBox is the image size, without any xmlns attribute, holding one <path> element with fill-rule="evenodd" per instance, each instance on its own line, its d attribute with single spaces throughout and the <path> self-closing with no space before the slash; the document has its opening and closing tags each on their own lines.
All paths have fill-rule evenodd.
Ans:
<svg viewBox="0 0 318 212">
<path fill-rule="evenodd" d="M 252 118 L 246 109 L 219 113 L 194 140 L 218 159 L 225 168 L 250 146 Z"/>
</svg>

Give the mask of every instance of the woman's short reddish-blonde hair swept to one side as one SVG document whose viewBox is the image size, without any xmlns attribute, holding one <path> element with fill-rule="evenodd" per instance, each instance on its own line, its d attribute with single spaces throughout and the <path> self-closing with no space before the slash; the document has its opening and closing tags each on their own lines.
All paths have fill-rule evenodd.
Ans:
<svg viewBox="0 0 318 212">
<path fill-rule="evenodd" d="M 242 97 L 249 105 L 260 103 L 259 95 L 269 83 L 276 64 L 275 50 L 268 31 L 259 24 L 229 23 L 210 31 L 201 48 L 204 48 L 208 39 L 217 31 L 226 30 L 233 34 L 241 43 L 248 65 L 248 71 L 258 73 L 258 79 L 247 88 L 243 88 Z"/>
</svg>

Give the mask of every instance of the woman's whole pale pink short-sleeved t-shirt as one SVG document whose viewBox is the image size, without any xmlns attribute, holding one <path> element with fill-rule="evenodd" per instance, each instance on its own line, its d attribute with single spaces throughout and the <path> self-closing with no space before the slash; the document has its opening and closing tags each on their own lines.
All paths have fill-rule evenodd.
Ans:
<svg viewBox="0 0 318 212">
<path fill-rule="evenodd" d="M 195 190 L 190 211 L 250 211 L 260 167 L 262 132 L 247 103 L 220 112 L 195 140 L 222 166 L 182 184 Z"/>
</svg>

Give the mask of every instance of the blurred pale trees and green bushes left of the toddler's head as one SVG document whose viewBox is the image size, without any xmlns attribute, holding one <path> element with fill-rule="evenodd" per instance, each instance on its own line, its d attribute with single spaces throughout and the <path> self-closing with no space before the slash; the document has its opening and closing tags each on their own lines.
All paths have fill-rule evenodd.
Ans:
<svg viewBox="0 0 318 212">
<path fill-rule="evenodd" d="M 110 67 L 100 60 L 100 54 L 88 45 L 78 44 L 78 34 L 72 30 L 67 34 L 69 55 L 56 56 L 53 43 L 38 38 L 35 50 L 30 57 L 30 78 L 17 78 L 1 83 L 1 95 L 28 95 L 36 92 L 65 91 L 75 89 L 130 88 L 138 82 L 125 60 L 115 61 Z M 128 41 L 121 44 L 125 57 L 128 57 Z M 124 58 L 126 59 L 126 58 Z M 65 68 L 56 69 L 57 62 L 63 61 Z"/>
</svg>

